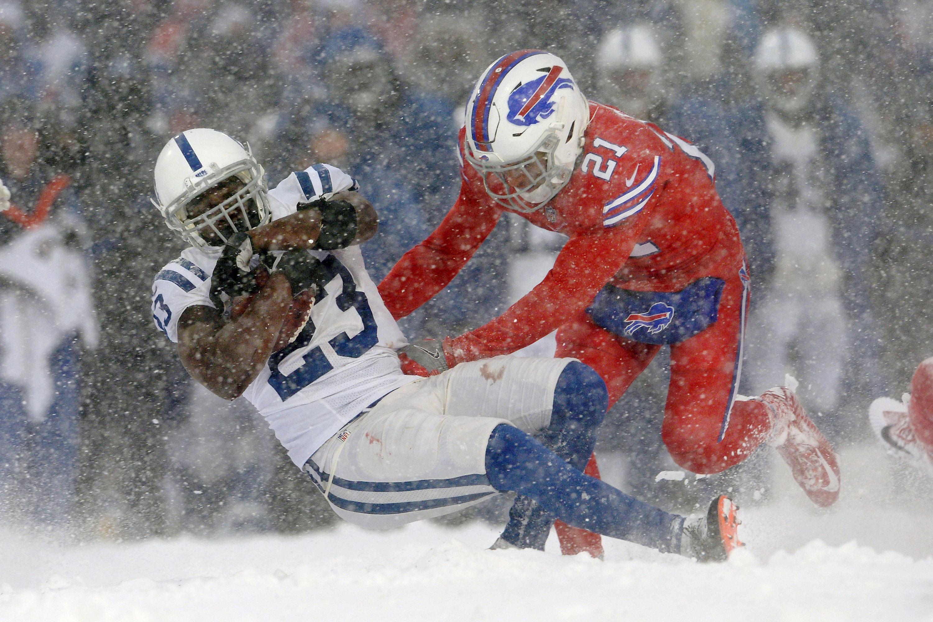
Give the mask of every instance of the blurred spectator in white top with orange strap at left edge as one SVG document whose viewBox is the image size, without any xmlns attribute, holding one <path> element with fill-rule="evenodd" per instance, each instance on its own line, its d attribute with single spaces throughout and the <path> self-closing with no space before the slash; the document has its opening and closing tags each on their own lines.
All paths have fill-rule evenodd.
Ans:
<svg viewBox="0 0 933 622">
<path fill-rule="evenodd" d="M 74 518 L 80 343 L 94 347 L 86 228 L 68 175 L 43 165 L 29 107 L 0 115 L 0 500 L 47 525 Z M 9 509 L 7 507 L 7 509 Z"/>
</svg>

